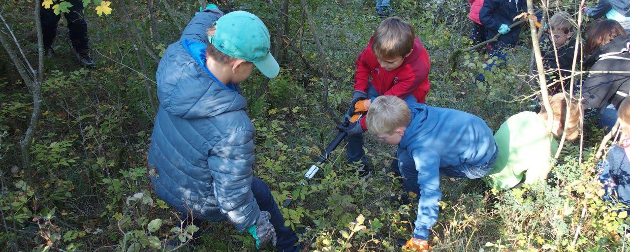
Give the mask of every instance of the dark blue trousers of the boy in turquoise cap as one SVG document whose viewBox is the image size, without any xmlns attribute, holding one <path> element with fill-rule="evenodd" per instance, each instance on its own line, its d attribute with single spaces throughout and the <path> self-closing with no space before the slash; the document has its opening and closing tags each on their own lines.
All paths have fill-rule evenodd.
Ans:
<svg viewBox="0 0 630 252">
<path fill-rule="evenodd" d="M 265 181 L 260 180 L 260 178 L 253 178 L 253 180 L 251 180 L 251 192 L 254 193 L 258 208 L 260 208 L 261 211 L 269 212 L 272 217 L 269 219 L 269 222 L 272 223 L 273 229 L 276 231 L 276 248 L 281 252 L 299 251 L 299 246 L 295 246 L 298 240 L 297 236 L 295 236 L 295 232 L 293 232 L 290 227 L 284 226 L 284 217 L 282 217 L 282 213 L 280 213 L 280 209 L 278 209 L 278 205 L 273 199 L 272 192 L 269 190 L 269 186 L 267 186 Z M 203 222 L 199 219 L 195 219 L 191 223 L 188 218 L 188 213 L 181 215 L 181 220 L 184 221 L 184 226 L 195 224 L 195 226 L 201 227 Z"/>
</svg>

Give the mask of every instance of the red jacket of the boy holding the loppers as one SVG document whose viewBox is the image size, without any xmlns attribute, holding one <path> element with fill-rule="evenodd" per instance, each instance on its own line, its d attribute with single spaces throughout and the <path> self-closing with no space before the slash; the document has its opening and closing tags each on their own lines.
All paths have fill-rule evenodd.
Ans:
<svg viewBox="0 0 630 252">
<path fill-rule="evenodd" d="M 357 76 L 355 76 L 355 90 L 367 93 L 369 77 L 372 86 L 380 95 L 395 95 L 405 98 L 415 96 L 418 103 L 425 103 L 425 98 L 431 87 L 429 83 L 430 61 L 429 54 L 420 39 L 413 40 L 411 55 L 403 60 L 403 64 L 392 71 L 385 71 L 376 60 L 372 51 L 372 38 L 357 57 Z"/>
</svg>

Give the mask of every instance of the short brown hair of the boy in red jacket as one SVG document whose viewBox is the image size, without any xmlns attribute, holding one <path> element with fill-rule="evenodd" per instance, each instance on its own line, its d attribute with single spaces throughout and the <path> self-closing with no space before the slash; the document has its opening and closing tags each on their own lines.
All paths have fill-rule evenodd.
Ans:
<svg viewBox="0 0 630 252">
<path fill-rule="evenodd" d="M 404 57 L 413 49 L 413 26 L 398 16 L 386 18 L 372 36 L 372 51 L 379 59 Z"/>
</svg>

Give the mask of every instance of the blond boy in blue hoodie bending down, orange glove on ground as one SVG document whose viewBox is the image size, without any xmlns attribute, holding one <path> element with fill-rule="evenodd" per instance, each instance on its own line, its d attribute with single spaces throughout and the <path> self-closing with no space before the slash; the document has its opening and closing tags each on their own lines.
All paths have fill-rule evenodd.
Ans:
<svg viewBox="0 0 630 252">
<path fill-rule="evenodd" d="M 418 217 L 406 248 L 427 249 L 442 198 L 440 174 L 481 178 L 490 173 L 498 153 L 492 130 L 469 113 L 421 103 L 408 106 L 396 96 L 376 98 L 365 124 L 381 142 L 398 145 L 396 165 L 405 190 L 418 198 Z"/>
</svg>

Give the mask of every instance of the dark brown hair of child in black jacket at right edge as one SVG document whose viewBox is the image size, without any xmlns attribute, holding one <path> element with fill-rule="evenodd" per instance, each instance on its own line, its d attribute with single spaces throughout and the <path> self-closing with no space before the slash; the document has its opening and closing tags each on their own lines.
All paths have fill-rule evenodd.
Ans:
<svg viewBox="0 0 630 252">
<path fill-rule="evenodd" d="M 610 42 L 613 38 L 628 35 L 619 22 L 615 20 L 602 20 L 591 26 L 587 33 L 587 43 L 584 47 L 585 54 L 592 54 L 597 48 Z"/>
</svg>

